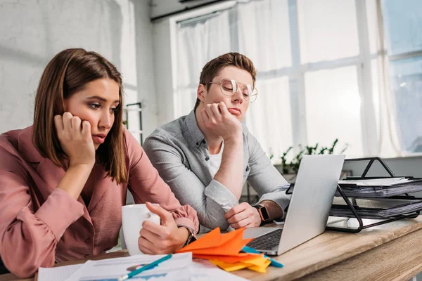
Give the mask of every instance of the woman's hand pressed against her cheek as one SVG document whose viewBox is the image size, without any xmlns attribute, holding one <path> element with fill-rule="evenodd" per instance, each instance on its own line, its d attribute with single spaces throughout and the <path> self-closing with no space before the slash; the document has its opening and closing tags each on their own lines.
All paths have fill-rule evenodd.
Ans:
<svg viewBox="0 0 422 281">
<path fill-rule="evenodd" d="M 70 112 L 54 117 L 54 125 L 61 148 L 69 157 L 69 165 L 95 164 L 95 147 L 91 136 L 91 124 L 73 116 Z"/>
</svg>

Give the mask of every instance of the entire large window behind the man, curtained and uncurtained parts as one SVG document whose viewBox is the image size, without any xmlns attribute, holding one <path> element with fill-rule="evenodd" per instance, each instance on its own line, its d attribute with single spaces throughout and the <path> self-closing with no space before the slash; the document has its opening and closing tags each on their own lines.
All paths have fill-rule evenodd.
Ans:
<svg viewBox="0 0 422 281">
<path fill-rule="evenodd" d="M 245 123 L 274 159 L 290 145 L 298 152 L 299 145 L 328 146 L 335 138 L 349 145 L 347 157 L 422 152 L 422 127 L 416 128 L 422 121 L 422 2 L 383 1 L 387 46 L 380 44 L 377 3 L 249 1 L 179 22 L 178 67 L 191 67 L 177 73 L 183 85 L 176 90 L 176 117 L 193 108 L 201 67 L 238 51 L 258 69 L 260 96 Z M 390 77 L 394 98 L 387 95 Z M 182 108 L 182 100 L 189 105 Z"/>
</svg>

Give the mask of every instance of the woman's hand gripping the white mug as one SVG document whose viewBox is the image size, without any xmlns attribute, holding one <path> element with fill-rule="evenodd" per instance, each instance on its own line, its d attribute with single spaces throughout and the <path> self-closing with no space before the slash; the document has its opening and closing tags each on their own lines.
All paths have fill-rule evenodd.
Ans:
<svg viewBox="0 0 422 281">
<path fill-rule="evenodd" d="M 158 205 L 146 203 L 146 207 L 158 214 L 161 226 L 151 221 L 144 221 L 139 232 L 139 249 L 143 254 L 170 254 L 181 249 L 188 239 L 188 230 L 179 228 L 169 211 Z"/>
</svg>

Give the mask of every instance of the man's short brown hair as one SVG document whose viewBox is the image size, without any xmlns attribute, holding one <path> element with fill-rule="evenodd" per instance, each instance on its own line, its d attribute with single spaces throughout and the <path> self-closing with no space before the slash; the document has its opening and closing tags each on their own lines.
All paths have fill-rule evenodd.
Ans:
<svg viewBox="0 0 422 281">
<path fill-rule="evenodd" d="M 246 70 L 252 76 L 253 86 L 255 86 L 255 78 L 257 76 L 257 70 L 246 55 L 241 53 L 225 53 L 217 58 L 213 58 L 206 65 L 204 65 L 200 72 L 199 84 L 207 85 L 207 91 L 210 90 L 210 84 L 207 84 L 218 75 L 218 72 L 226 66 L 236 66 L 242 70 Z M 196 98 L 194 110 L 198 107 L 200 99 Z"/>
</svg>

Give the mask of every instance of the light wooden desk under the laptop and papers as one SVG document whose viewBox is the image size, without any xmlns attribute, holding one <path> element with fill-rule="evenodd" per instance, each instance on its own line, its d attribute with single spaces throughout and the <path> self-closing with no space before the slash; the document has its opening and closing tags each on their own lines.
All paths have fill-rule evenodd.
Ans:
<svg viewBox="0 0 422 281">
<path fill-rule="evenodd" d="M 409 280 L 422 271 L 422 216 L 362 230 L 361 233 L 324 234 L 276 257 L 284 268 L 266 274 L 239 270 L 250 280 Z M 95 259 L 126 256 L 126 251 Z M 60 263 L 69 265 L 84 261 Z M 16 280 L 1 275 L 0 280 Z M 32 280 L 32 279 L 27 279 Z"/>
</svg>

